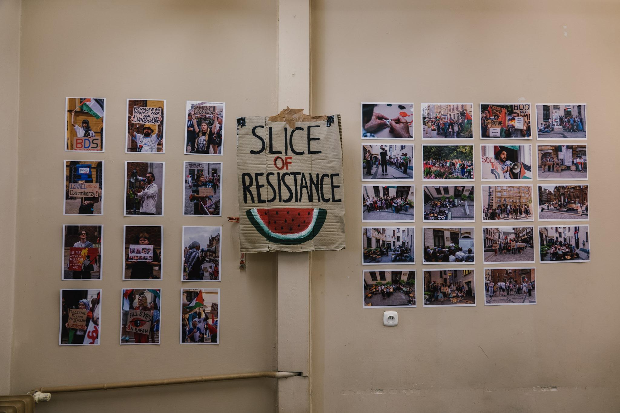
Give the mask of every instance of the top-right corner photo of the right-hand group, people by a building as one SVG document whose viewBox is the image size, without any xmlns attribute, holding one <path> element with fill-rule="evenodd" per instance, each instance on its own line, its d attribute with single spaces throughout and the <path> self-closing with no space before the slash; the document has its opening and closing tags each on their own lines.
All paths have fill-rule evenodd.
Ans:
<svg viewBox="0 0 620 413">
<path fill-rule="evenodd" d="M 585 103 L 537 103 L 538 139 L 587 139 Z"/>
</svg>

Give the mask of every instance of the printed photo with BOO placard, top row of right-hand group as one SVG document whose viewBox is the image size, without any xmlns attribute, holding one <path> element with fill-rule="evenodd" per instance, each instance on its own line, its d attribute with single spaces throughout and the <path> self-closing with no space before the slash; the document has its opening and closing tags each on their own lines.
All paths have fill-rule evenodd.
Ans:
<svg viewBox="0 0 620 413">
<path fill-rule="evenodd" d="M 482 139 L 532 139 L 529 103 L 480 103 Z"/>
</svg>

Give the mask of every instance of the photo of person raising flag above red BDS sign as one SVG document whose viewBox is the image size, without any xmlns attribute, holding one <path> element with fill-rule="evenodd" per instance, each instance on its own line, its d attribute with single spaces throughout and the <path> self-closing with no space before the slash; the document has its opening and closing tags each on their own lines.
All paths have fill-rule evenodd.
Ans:
<svg viewBox="0 0 620 413">
<path fill-rule="evenodd" d="M 105 98 L 68 97 L 64 150 L 104 151 Z"/>
</svg>

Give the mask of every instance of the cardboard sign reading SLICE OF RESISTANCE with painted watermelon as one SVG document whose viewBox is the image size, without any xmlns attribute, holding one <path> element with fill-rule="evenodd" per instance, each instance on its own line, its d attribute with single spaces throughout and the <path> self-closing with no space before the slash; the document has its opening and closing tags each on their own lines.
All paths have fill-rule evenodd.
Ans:
<svg viewBox="0 0 620 413">
<path fill-rule="evenodd" d="M 241 252 L 345 248 L 340 115 L 237 118 Z"/>
</svg>

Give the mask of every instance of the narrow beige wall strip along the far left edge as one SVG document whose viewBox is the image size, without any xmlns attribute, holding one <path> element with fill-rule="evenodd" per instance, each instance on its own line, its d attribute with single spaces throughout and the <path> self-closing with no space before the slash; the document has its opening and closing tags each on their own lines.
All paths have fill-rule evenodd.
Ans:
<svg viewBox="0 0 620 413">
<path fill-rule="evenodd" d="M 20 1 L 0 2 L 0 394 L 9 393 L 15 279 Z"/>
</svg>

